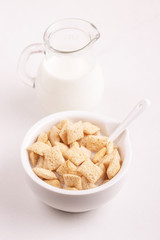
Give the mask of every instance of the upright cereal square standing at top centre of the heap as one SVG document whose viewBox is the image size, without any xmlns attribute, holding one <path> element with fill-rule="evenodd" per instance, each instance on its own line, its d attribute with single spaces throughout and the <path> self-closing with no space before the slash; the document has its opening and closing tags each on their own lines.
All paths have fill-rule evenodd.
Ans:
<svg viewBox="0 0 160 240">
<path fill-rule="evenodd" d="M 67 142 L 71 144 L 84 137 L 82 121 L 74 123 L 67 129 Z"/>
</svg>

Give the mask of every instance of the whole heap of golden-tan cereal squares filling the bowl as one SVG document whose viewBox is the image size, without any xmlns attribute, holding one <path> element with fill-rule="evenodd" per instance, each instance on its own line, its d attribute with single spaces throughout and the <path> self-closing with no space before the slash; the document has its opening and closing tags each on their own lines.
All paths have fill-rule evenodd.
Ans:
<svg viewBox="0 0 160 240">
<path fill-rule="evenodd" d="M 27 148 L 33 172 L 46 184 L 87 190 L 112 179 L 121 168 L 118 148 L 90 122 L 63 120 Z"/>
</svg>

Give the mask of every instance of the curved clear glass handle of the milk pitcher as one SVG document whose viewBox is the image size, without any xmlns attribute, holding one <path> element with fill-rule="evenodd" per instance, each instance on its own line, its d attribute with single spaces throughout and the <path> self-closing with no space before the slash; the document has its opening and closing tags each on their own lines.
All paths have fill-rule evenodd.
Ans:
<svg viewBox="0 0 160 240">
<path fill-rule="evenodd" d="M 35 77 L 31 77 L 26 71 L 26 63 L 30 56 L 35 53 L 44 53 L 44 45 L 42 43 L 31 44 L 26 47 L 20 55 L 18 61 L 18 74 L 25 84 L 35 87 Z"/>
</svg>

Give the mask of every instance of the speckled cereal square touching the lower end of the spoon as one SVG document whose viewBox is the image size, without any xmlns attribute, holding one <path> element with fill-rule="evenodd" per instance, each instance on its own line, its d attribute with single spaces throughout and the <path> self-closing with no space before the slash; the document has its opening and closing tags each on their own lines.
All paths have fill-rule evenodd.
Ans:
<svg viewBox="0 0 160 240">
<path fill-rule="evenodd" d="M 92 152 L 98 152 L 103 147 L 106 147 L 107 140 L 108 138 L 105 136 L 89 135 L 87 138 L 86 148 L 88 148 Z"/>
</svg>

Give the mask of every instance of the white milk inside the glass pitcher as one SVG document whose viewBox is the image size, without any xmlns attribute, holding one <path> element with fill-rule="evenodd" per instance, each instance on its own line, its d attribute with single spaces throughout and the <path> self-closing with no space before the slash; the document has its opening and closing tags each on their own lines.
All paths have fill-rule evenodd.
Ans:
<svg viewBox="0 0 160 240">
<path fill-rule="evenodd" d="M 42 61 L 35 87 L 49 113 L 92 111 L 100 104 L 104 80 L 100 65 L 89 58 L 55 55 Z"/>
</svg>

